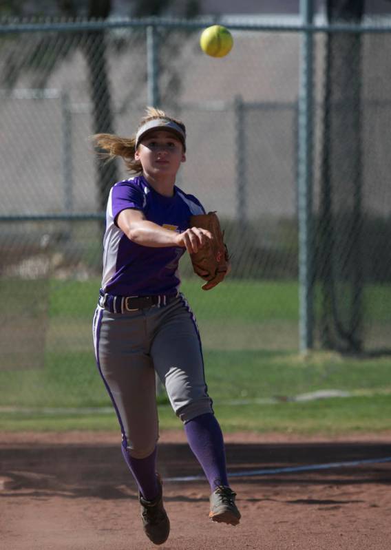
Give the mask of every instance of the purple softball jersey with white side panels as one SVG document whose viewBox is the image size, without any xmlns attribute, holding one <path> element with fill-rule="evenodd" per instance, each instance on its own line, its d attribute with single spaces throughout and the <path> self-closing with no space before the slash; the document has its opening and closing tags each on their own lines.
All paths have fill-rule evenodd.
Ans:
<svg viewBox="0 0 391 550">
<path fill-rule="evenodd" d="M 178 263 L 186 249 L 142 246 L 129 240 L 116 225 L 120 211 L 128 208 L 141 210 L 147 220 L 181 233 L 189 228 L 191 215 L 205 212 L 202 204 L 178 187 L 174 187 L 172 197 L 160 195 L 143 176 L 114 184 L 109 194 L 103 292 L 119 296 L 176 294 L 180 286 Z"/>
</svg>

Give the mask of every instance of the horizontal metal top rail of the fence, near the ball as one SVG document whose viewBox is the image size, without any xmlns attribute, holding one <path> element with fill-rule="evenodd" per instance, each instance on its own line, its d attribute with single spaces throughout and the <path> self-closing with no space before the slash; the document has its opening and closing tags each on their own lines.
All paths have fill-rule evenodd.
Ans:
<svg viewBox="0 0 391 550">
<path fill-rule="evenodd" d="M 299 17 L 293 19 L 296 23 L 288 23 L 287 19 L 275 17 L 273 21 L 268 18 L 264 22 L 260 20 L 248 21 L 227 17 L 207 17 L 200 19 L 174 19 L 162 17 L 149 17 L 140 19 L 110 19 L 110 20 L 80 20 L 80 21 L 25 21 L 25 20 L 0 20 L 0 35 L 15 34 L 23 32 L 99 32 L 103 30 L 114 30 L 124 28 L 180 28 L 188 30 L 200 30 L 209 25 L 222 24 L 229 26 L 230 30 L 253 30 L 263 32 L 346 32 L 346 33 L 381 33 L 391 32 L 391 18 L 377 19 L 381 23 L 371 23 L 364 20 L 361 24 L 352 23 L 314 23 L 307 25 L 300 23 Z M 385 21 L 387 21 L 385 23 Z"/>
</svg>

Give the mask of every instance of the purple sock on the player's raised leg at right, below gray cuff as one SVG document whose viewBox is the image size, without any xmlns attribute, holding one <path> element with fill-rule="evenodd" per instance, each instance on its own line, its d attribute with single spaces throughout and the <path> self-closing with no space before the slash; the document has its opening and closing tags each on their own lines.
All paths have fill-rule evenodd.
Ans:
<svg viewBox="0 0 391 550">
<path fill-rule="evenodd" d="M 196 416 L 184 425 L 184 432 L 211 490 L 214 491 L 218 485 L 229 485 L 222 431 L 214 414 L 207 412 Z"/>
</svg>

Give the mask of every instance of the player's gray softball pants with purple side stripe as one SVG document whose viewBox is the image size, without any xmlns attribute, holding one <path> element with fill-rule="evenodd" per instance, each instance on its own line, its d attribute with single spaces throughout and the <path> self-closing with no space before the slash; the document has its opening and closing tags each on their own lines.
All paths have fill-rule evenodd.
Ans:
<svg viewBox="0 0 391 550">
<path fill-rule="evenodd" d="M 134 458 L 149 456 L 158 441 L 155 372 L 182 422 L 213 412 L 200 335 L 182 295 L 126 314 L 98 306 L 93 333 L 96 363 Z"/>
</svg>

